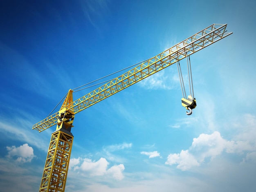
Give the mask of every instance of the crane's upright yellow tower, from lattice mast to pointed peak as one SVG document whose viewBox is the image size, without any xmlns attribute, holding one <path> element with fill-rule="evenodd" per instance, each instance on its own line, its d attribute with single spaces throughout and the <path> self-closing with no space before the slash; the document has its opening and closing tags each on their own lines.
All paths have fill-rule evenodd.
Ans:
<svg viewBox="0 0 256 192">
<path fill-rule="evenodd" d="M 65 191 L 74 138 L 71 133 L 74 112 L 67 109 L 72 102 L 72 91 L 69 91 L 58 114 L 56 131 L 52 133 L 39 192 Z"/>
</svg>

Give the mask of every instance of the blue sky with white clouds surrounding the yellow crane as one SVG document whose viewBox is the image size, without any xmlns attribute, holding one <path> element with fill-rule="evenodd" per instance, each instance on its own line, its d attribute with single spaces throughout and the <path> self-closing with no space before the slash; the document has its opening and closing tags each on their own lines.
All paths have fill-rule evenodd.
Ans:
<svg viewBox="0 0 256 192">
<path fill-rule="evenodd" d="M 255 0 L 1 1 L 1 191 L 38 191 L 56 127 L 31 128 L 69 89 L 213 23 L 233 34 L 191 56 L 193 114 L 181 105 L 176 66 L 76 114 L 65 191 L 255 191 L 255 7 Z"/>
</svg>

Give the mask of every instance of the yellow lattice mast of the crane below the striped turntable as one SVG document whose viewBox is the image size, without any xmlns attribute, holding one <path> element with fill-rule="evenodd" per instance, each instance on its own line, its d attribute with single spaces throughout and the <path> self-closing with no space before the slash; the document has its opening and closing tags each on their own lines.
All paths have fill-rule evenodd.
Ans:
<svg viewBox="0 0 256 192">
<path fill-rule="evenodd" d="M 39 192 L 65 191 L 73 138 L 62 129 L 52 134 Z"/>
</svg>

